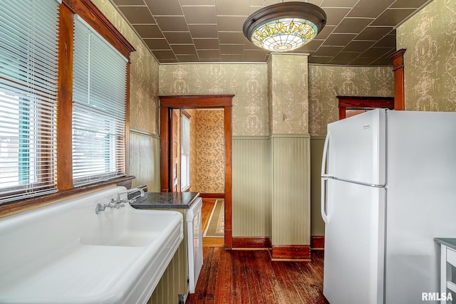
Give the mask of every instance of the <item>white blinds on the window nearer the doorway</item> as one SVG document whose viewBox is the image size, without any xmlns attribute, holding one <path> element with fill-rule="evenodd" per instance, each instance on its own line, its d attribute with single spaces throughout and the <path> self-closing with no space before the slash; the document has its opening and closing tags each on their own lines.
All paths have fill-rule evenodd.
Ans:
<svg viewBox="0 0 456 304">
<path fill-rule="evenodd" d="M 127 59 L 74 22 L 73 185 L 125 175 Z"/>
</svg>

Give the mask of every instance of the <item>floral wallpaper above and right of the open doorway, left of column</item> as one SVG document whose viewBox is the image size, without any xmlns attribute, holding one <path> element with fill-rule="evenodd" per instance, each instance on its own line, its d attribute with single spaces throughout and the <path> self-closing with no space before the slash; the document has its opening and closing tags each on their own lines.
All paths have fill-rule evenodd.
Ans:
<svg viewBox="0 0 456 304">
<path fill-rule="evenodd" d="M 233 136 L 266 136 L 266 64 L 160 65 L 160 95 L 234 94 Z"/>
</svg>

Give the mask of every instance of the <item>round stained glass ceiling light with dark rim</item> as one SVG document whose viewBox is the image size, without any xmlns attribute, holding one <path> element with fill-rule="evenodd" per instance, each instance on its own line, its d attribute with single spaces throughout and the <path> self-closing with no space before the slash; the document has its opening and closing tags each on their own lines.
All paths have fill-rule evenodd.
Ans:
<svg viewBox="0 0 456 304">
<path fill-rule="evenodd" d="M 321 32 L 326 14 L 307 2 L 281 2 L 266 6 L 244 22 L 244 35 L 254 45 L 272 52 L 292 51 Z"/>
</svg>

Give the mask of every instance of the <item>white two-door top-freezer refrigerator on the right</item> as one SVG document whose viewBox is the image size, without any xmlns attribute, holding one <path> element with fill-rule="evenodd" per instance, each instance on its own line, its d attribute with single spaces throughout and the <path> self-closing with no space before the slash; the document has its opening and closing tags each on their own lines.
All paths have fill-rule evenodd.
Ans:
<svg viewBox="0 0 456 304">
<path fill-rule="evenodd" d="M 456 237 L 456 112 L 333 122 L 321 177 L 331 304 L 423 303 L 440 291 L 434 238 Z"/>
</svg>

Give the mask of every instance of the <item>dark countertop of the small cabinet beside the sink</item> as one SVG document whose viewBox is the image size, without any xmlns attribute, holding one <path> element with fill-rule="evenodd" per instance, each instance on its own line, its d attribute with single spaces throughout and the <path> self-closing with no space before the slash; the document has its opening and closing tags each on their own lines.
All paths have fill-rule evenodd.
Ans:
<svg viewBox="0 0 456 304">
<path fill-rule="evenodd" d="M 189 209 L 199 192 L 146 192 L 130 205 L 136 209 Z"/>
</svg>

